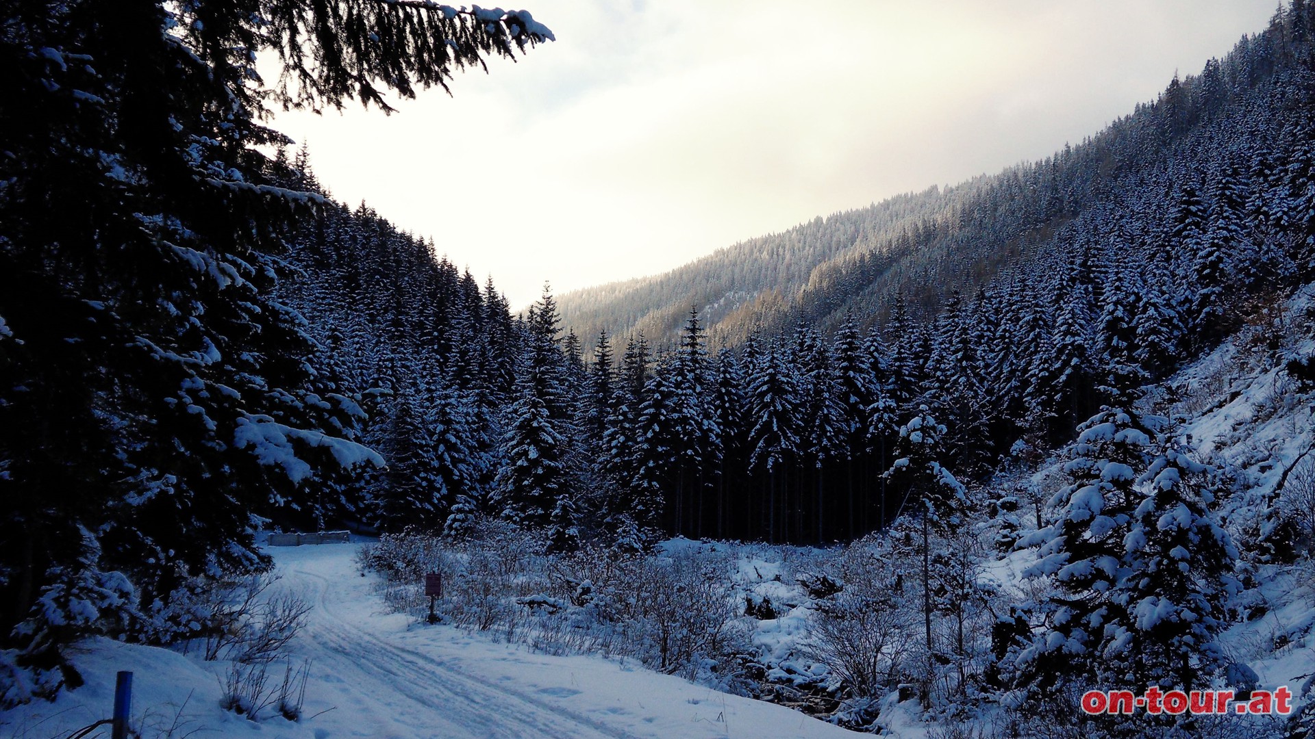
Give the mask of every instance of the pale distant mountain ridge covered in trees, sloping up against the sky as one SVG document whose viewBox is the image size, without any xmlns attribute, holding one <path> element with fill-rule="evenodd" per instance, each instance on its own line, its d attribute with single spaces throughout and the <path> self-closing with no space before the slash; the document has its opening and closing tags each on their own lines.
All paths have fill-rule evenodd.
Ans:
<svg viewBox="0 0 1315 739">
<path fill-rule="evenodd" d="M 1201 153 L 1181 149 L 1252 103 L 1281 67 L 1281 33 L 1276 16 L 1223 60 L 1184 79 L 1176 74 L 1155 101 L 1044 159 L 817 216 L 658 275 L 564 293 L 563 325 L 581 337 L 643 333 L 661 343 L 693 306 L 715 341 L 736 345 L 755 329 L 834 329 L 846 312 L 863 326 L 881 323 L 897 292 L 930 316 L 951 288 L 976 289 L 1084 212 L 1111 205 L 1124 178 L 1155 176 L 1160 163 L 1184 158 L 1198 168 Z M 1157 158 L 1157 149 L 1169 151 Z"/>
</svg>

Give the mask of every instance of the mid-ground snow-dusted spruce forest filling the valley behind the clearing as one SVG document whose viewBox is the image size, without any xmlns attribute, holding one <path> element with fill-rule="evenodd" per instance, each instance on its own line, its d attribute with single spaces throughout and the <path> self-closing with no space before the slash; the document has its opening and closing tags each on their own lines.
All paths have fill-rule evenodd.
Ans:
<svg viewBox="0 0 1315 739">
<path fill-rule="evenodd" d="M 918 505 L 930 483 L 892 467 L 915 444 L 964 483 L 1026 464 L 1311 279 L 1307 14 L 1091 142 L 965 185 L 972 201 L 892 218 L 923 234 L 914 263 L 842 270 L 803 293 L 839 317 L 776 330 L 764 309 L 734 347 L 711 346 L 700 305 L 658 346 L 563 331 L 548 291 L 512 317 L 423 243 L 327 209 L 297 239 L 306 279 L 281 289 L 351 392 L 384 392 L 364 439 L 392 462 L 359 517 L 458 527 L 473 508 L 563 547 L 830 542 Z M 869 268 L 902 280 L 880 312 L 852 302 Z"/>
</svg>

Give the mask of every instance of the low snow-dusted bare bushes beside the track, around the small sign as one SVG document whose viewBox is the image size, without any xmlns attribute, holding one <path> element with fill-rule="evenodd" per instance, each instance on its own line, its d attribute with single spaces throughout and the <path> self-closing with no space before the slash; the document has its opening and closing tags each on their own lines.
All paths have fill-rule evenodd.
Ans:
<svg viewBox="0 0 1315 739">
<path fill-rule="evenodd" d="M 460 542 L 384 535 L 362 564 L 384 576 L 385 602 L 429 614 L 426 572 L 443 573 L 439 617 L 554 655 L 629 657 L 661 672 L 743 690 L 750 650 L 726 558 L 682 550 L 618 556 L 583 548 L 539 554 L 517 529 L 480 522 Z"/>
</svg>

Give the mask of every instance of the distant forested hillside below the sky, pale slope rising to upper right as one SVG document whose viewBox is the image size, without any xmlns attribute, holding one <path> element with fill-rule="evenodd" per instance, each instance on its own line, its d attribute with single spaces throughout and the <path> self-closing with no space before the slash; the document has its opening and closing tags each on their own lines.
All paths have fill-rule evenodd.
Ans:
<svg viewBox="0 0 1315 739">
<path fill-rule="evenodd" d="M 1301 138 L 1291 129 L 1306 116 L 1297 79 L 1304 33 L 1276 16 L 1268 32 L 1051 158 L 819 216 L 664 275 L 571 292 L 560 297 L 563 322 L 581 335 L 640 331 L 663 342 L 697 306 L 715 341 L 801 321 L 831 331 L 846 313 L 861 326 L 884 322 L 897 293 L 915 317 L 930 317 L 948 288 L 972 295 L 1002 270 L 1036 266 L 1115 225 L 1126 233 L 1114 238 L 1135 250 L 1159 243 L 1159 216 L 1184 188 L 1211 201 L 1211 183 L 1228 170 L 1270 180 L 1270 158 L 1286 164 L 1285 146 Z"/>
</svg>

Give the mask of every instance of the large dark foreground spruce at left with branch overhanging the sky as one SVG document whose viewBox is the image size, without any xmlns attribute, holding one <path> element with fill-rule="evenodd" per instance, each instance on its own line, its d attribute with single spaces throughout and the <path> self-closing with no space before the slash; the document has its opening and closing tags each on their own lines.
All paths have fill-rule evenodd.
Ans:
<svg viewBox="0 0 1315 739">
<path fill-rule="evenodd" d="M 135 601 L 78 605 L 109 618 L 188 573 L 258 568 L 260 515 L 377 460 L 266 297 L 271 255 L 316 200 L 266 183 L 256 147 L 281 141 L 266 107 L 388 109 L 389 89 L 446 87 L 551 33 L 529 13 L 373 0 L 4 13 L 0 647 L 54 676 L 46 692 L 76 682 L 57 650 L 85 629 L 42 598 L 121 571 Z M 266 50 L 285 72 L 272 92 Z"/>
</svg>

